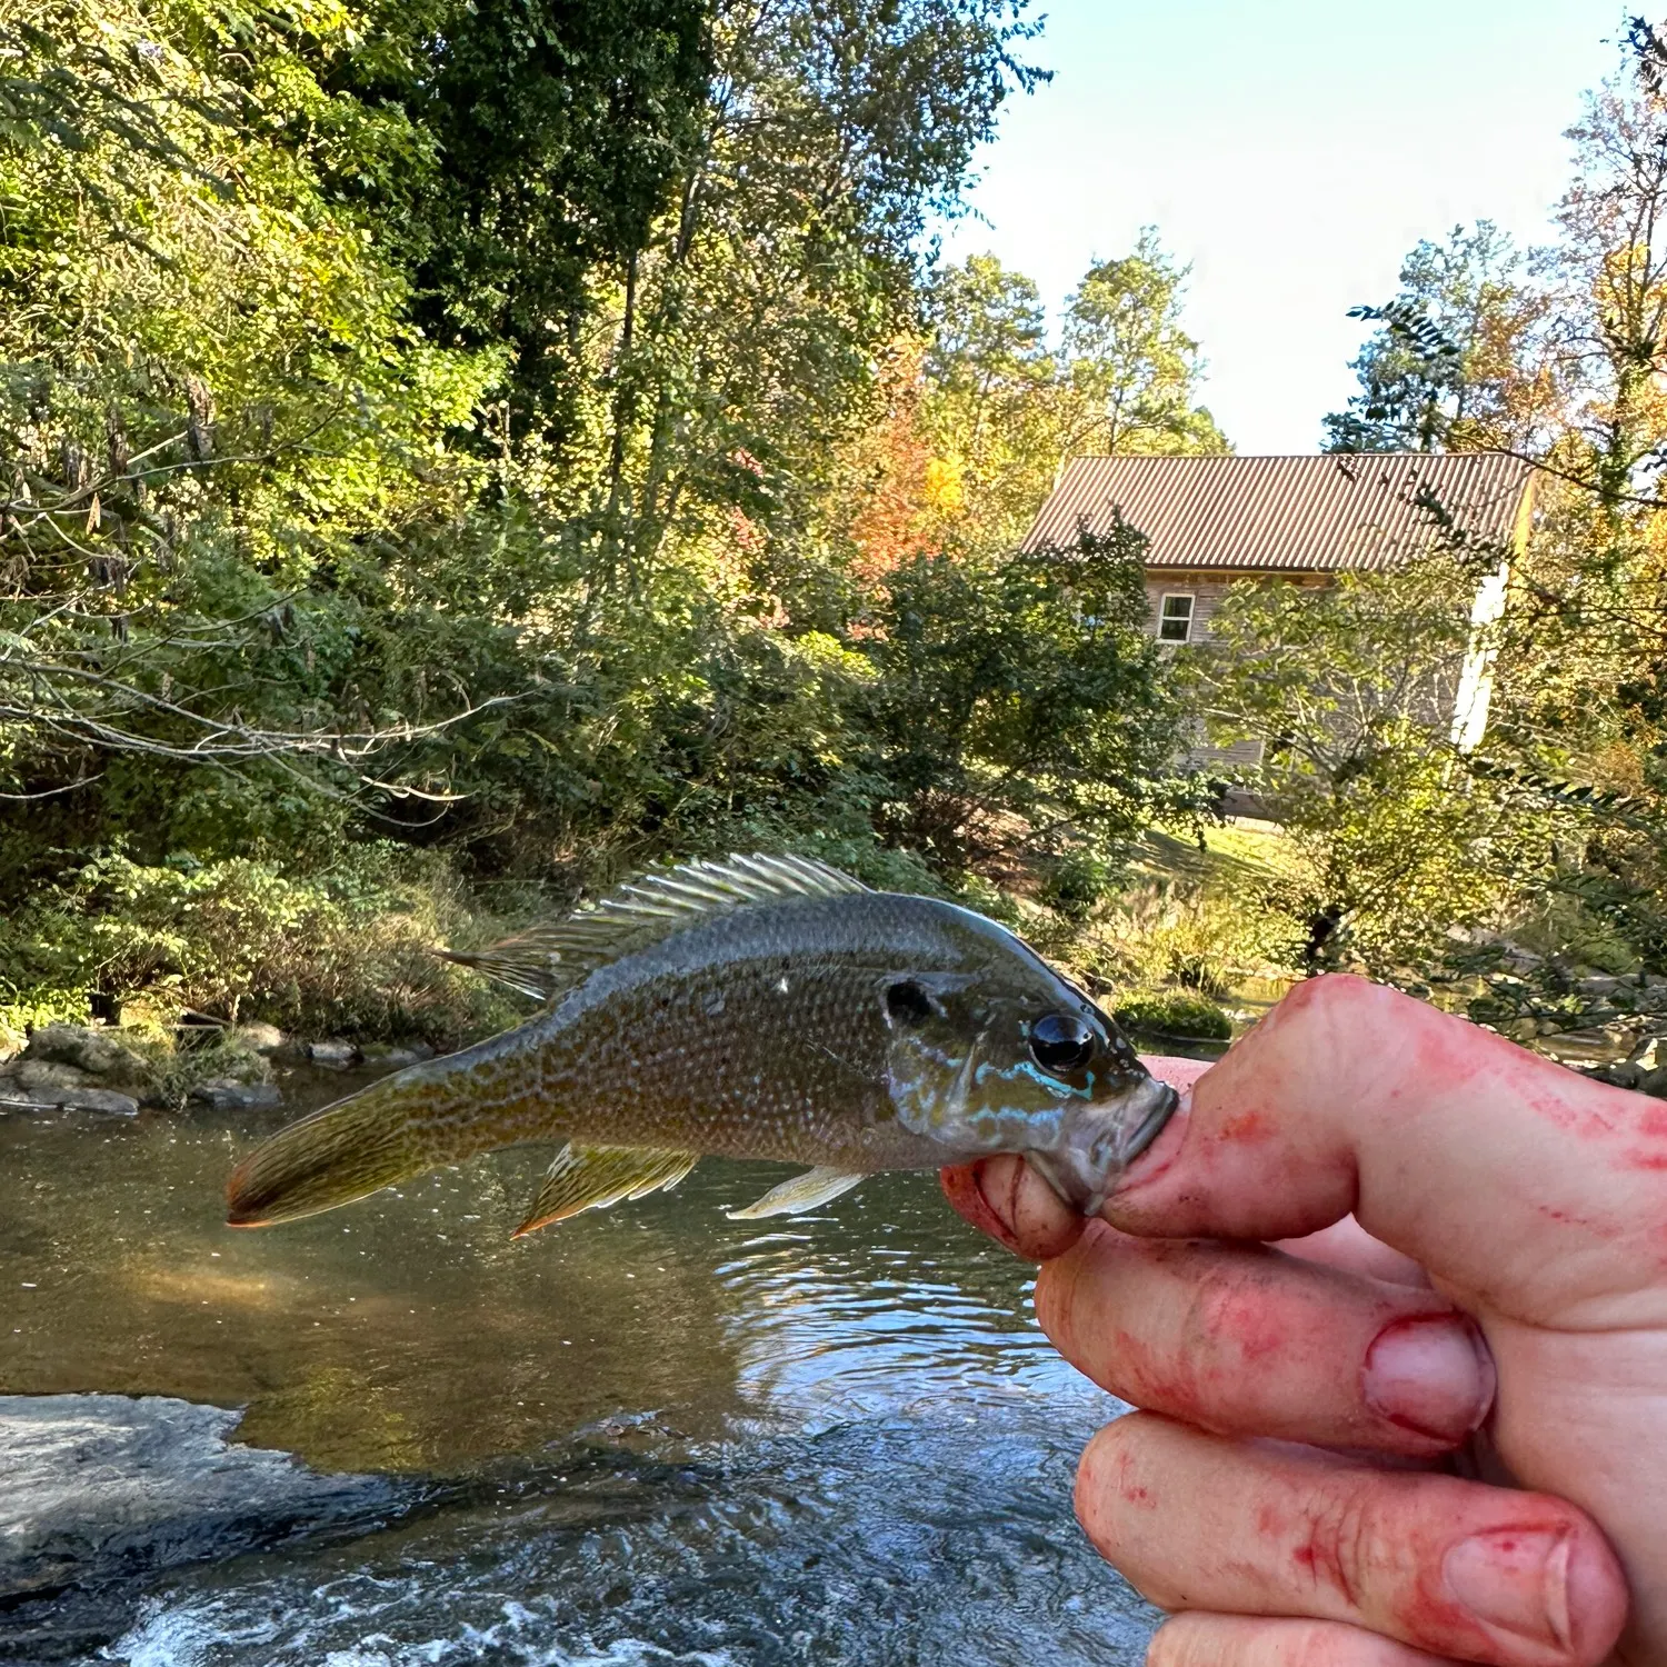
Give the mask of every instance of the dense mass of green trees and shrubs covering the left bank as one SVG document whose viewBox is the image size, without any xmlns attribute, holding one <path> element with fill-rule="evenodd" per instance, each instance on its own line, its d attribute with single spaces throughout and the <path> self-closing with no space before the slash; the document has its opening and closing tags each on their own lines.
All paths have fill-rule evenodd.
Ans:
<svg viewBox="0 0 1667 1667">
<path fill-rule="evenodd" d="M 455 1040 L 490 1015 L 428 947 L 490 929 L 472 885 L 777 847 L 942 890 L 1172 800 L 1132 537 L 854 553 L 929 223 L 1039 73 L 1022 0 L 20 7 L 13 1024 Z M 935 365 L 1022 428 L 974 410 L 1027 375 L 985 302 Z"/>
</svg>

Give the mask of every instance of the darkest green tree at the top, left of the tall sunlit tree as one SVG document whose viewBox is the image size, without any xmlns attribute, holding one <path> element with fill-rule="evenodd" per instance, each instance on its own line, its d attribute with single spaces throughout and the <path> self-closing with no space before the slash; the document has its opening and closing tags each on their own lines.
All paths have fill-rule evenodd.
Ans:
<svg viewBox="0 0 1667 1667">
<path fill-rule="evenodd" d="M 630 268 L 703 140 L 707 0 L 370 0 L 303 52 L 322 183 L 367 213 L 435 342 L 508 347 L 510 430 L 583 422 L 598 275 Z M 295 133 L 300 138 L 300 133 Z"/>
</svg>

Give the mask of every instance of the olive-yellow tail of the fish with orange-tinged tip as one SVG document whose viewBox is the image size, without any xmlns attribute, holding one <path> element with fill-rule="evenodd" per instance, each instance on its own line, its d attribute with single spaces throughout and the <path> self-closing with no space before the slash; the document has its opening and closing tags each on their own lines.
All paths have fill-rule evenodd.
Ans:
<svg viewBox="0 0 1667 1667">
<path fill-rule="evenodd" d="M 233 1170 L 227 1222 L 293 1222 L 533 1135 L 512 1117 L 523 1110 L 515 1102 L 468 1105 L 465 1067 L 487 1047 L 402 1070 L 280 1129 Z"/>
</svg>

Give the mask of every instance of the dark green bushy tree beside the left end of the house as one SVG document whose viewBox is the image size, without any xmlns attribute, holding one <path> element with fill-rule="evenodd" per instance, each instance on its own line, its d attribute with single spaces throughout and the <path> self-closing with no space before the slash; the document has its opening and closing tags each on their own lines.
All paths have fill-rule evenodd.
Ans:
<svg viewBox="0 0 1667 1667">
<path fill-rule="evenodd" d="M 862 647 L 892 839 L 952 870 L 1045 854 L 1072 832 L 1115 850 L 1184 802 L 1167 772 L 1182 712 L 1145 632 L 1144 548 L 1117 527 L 1070 550 L 927 555 L 889 575 Z"/>
</svg>

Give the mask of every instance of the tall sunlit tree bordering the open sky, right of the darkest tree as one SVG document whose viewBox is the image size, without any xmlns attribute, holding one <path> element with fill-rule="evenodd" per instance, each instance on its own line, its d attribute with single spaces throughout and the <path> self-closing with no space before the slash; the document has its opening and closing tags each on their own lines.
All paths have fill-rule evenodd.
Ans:
<svg viewBox="0 0 1667 1667">
<path fill-rule="evenodd" d="M 1032 30 L 1017 0 L 732 0 L 677 208 L 625 272 L 597 342 L 607 468 L 590 493 L 603 583 L 667 540 L 768 553 L 810 527 L 875 413 L 910 322 L 925 217 L 950 212 Z M 603 403 L 605 402 L 605 403 Z"/>
</svg>

